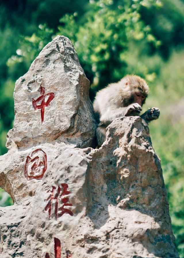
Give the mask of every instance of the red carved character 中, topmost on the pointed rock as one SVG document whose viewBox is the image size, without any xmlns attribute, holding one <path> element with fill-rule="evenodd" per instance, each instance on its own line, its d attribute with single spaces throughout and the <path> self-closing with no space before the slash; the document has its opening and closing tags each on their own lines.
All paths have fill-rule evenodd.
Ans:
<svg viewBox="0 0 184 258">
<path fill-rule="evenodd" d="M 39 98 L 37 98 L 36 100 L 32 99 L 32 105 L 34 107 L 34 110 L 41 109 L 41 122 L 43 122 L 45 107 L 49 106 L 50 102 L 55 98 L 55 94 L 53 92 L 45 94 L 45 88 L 42 86 L 40 86 L 40 93 L 41 93 L 41 96 Z M 45 97 L 47 96 L 49 97 L 45 102 Z M 42 100 L 41 104 L 37 105 L 37 103 L 41 100 Z"/>
</svg>

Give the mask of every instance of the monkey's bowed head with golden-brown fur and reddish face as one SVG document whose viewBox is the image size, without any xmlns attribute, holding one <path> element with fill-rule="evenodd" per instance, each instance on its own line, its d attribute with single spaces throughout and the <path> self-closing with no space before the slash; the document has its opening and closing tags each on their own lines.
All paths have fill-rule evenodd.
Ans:
<svg viewBox="0 0 184 258">
<path fill-rule="evenodd" d="M 138 103 L 143 105 L 149 93 L 149 87 L 144 79 L 137 75 L 126 75 L 122 78 L 124 105 Z"/>
</svg>

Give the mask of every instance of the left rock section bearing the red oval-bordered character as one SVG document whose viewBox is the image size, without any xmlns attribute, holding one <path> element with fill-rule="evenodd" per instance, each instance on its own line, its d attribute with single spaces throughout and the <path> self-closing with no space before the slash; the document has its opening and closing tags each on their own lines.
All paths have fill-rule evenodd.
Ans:
<svg viewBox="0 0 184 258">
<path fill-rule="evenodd" d="M 16 204 L 29 202 L 29 198 L 34 197 L 40 179 L 48 171 L 51 161 L 66 147 L 69 150 L 74 146 L 65 143 L 45 143 L 26 150 L 9 151 L 0 156 L 0 187 L 3 186 Z M 35 163 L 36 157 L 38 159 Z M 40 162 L 43 164 L 40 165 Z M 35 169 L 32 168 L 34 164 L 37 165 Z"/>
</svg>

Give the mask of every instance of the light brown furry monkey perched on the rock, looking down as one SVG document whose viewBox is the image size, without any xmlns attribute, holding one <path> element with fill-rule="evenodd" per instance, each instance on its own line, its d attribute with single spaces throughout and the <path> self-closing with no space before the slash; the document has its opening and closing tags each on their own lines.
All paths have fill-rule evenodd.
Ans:
<svg viewBox="0 0 184 258">
<path fill-rule="evenodd" d="M 127 75 L 117 83 L 110 83 L 97 92 L 93 103 L 94 111 L 99 115 L 97 143 L 101 146 L 106 140 L 106 127 L 115 119 L 123 116 L 139 116 L 142 105 L 149 93 L 144 79 L 136 75 Z M 149 123 L 159 117 L 160 110 L 152 107 L 141 115 Z"/>
</svg>

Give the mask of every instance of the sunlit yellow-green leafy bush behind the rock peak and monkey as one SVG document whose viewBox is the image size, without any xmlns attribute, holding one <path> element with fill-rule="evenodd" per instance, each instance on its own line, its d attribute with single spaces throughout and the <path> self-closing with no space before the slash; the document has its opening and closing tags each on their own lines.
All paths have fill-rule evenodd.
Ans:
<svg viewBox="0 0 184 258">
<path fill-rule="evenodd" d="M 148 1 L 147 1 L 148 2 Z M 152 2 L 152 1 L 149 1 Z M 132 1 L 90 1 L 91 8 L 79 22 L 75 15 L 60 19 L 58 34 L 74 42 L 79 60 L 91 81 L 91 98 L 109 82 L 120 80 L 127 73 L 129 44 L 150 42 L 159 46 L 151 28 L 141 20 L 141 4 Z M 72 30 L 70 29 L 72 26 Z M 148 72 L 148 71 L 147 71 Z M 147 74 L 144 74 L 144 77 Z"/>
</svg>

